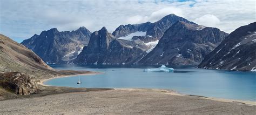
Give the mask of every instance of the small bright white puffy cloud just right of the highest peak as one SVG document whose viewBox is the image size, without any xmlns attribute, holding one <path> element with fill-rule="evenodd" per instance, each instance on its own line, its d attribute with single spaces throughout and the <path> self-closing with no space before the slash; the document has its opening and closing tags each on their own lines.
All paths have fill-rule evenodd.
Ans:
<svg viewBox="0 0 256 115">
<path fill-rule="evenodd" d="M 220 24 L 220 19 L 214 15 L 207 14 L 196 18 L 194 22 L 204 26 L 217 27 Z"/>
</svg>

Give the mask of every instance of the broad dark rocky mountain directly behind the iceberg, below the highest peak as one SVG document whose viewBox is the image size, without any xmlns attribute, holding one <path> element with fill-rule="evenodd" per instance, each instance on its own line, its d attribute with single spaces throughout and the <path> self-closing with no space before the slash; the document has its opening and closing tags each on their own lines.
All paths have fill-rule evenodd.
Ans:
<svg viewBox="0 0 256 115">
<path fill-rule="evenodd" d="M 137 64 L 196 65 L 228 34 L 217 28 L 178 21 Z"/>
</svg>

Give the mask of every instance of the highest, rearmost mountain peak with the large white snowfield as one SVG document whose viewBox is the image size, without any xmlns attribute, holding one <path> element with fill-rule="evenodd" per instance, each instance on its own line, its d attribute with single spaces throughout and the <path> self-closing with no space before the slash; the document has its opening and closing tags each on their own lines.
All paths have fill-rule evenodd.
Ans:
<svg viewBox="0 0 256 115">
<path fill-rule="evenodd" d="M 169 29 L 172 24 L 177 21 L 183 21 L 186 23 L 196 24 L 183 17 L 176 16 L 174 14 L 167 15 L 161 18 L 159 21 L 150 23 L 142 23 L 142 24 L 127 24 L 120 25 L 112 35 L 116 38 L 120 39 L 139 39 L 144 43 L 157 41 L 163 36 L 164 32 Z M 134 38 L 133 38 L 134 37 Z"/>
</svg>

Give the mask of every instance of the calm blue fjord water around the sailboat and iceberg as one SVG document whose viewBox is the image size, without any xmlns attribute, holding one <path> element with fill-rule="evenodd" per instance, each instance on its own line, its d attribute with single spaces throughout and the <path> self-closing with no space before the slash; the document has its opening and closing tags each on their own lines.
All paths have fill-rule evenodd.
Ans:
<svg viewBox="0 0 256 115">
<path fill-rule="evenodd" d="M 156 65 L 51 65 L 60 70 L 103 72 L 55 78 L 45 85 L 68 87 L 169 89 L 182 94 L 256 101 L 256 72 L 196 69 L 171 66 L 172 72 L 143 72 Z M 79 76 L 82 84 L 77 84 Z"/>
</svg>

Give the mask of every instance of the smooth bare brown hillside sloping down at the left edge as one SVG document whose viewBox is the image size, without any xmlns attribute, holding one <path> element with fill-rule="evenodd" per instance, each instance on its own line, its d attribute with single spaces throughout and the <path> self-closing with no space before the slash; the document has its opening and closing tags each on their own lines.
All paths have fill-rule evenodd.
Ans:
<svg viewBox="0 0 256 115">
<path fill-rule="evenodd" d="M 34 52 L 0 35 L 0 72 L 19 71 L 33 75 L 54 71 Z"/>
</svg>

